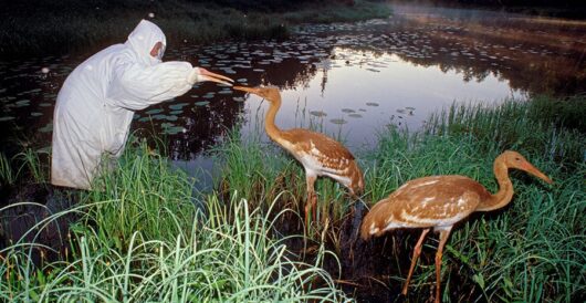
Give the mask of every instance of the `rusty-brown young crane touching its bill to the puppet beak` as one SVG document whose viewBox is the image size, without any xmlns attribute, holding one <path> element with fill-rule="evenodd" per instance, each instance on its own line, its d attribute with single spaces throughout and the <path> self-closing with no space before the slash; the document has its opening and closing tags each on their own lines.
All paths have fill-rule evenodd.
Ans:
<svg viewBox="0 0 586 303">
<path fill-rule="evenodd" d="M 315 220 L 317 195 L 314 182 L 320 176 L 327 176 L 345 186 L 353 198 L 357 198 L 364 190 L 360 168 L 354 156 L 342 144 L 323 134 L 303 128 L 279 129 L 274 118 L 281 107 L 281 93 L 276 87 L 243 87 L 234 90 L 248 92 L 263 97 L 270 103 L 264 129 L 266 135 L 297 159 L 305 169 L 307 186 L 307 201 L 305 203 L 305 226 L 308 228 L 310 213 Z"/>
</svg>

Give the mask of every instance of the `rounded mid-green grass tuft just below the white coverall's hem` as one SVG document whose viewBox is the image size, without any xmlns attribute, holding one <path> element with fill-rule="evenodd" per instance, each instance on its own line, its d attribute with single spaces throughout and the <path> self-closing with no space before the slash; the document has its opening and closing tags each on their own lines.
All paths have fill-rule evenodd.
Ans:
<svg viewBox="0 0 586 303">
<path fill-rule="evenodd" d="M 103 241 L 123 249 L 136 231 L 145 240 L 172 239 L 191 224 L 195 180 L 169 169 L 168 159 L 150 153 L 145 143 L 125 153 L 117 165 L 102 174 L 86 198 L 86 224 L 96 226 Z"/>
</svg>

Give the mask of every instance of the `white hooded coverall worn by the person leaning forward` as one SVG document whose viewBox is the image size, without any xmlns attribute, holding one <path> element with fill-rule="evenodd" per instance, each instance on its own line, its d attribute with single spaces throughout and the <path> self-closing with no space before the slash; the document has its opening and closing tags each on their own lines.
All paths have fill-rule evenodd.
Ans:
<svg viewBox="0 0 586 303">
<path fill-rule="evenodd" d="M 192 87 L 189 62 L 160 62 L 150 55 L 163 31 L 143 20 L 124 44 L 84 61 L 59 92 L 53 115 L 51 182 L 90 189 L 102 155 L 117 157 L 134 111 L 185 94 Z"/>
</svg>

